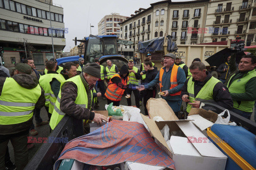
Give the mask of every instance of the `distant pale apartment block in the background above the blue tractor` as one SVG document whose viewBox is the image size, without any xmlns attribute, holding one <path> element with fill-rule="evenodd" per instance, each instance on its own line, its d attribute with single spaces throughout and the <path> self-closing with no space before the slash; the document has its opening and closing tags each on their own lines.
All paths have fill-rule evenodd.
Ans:
<svg viewBox="0 0 256 170">
<path fill-rule="evenodd" d="M 127 16 L 122 16 L 118 13 L 111 13 L 111 15 L 104 16 L 98 23 L 98 35 L 117 35 L 120 36 L 120 22 L 126 20 Z"/>
</svg>

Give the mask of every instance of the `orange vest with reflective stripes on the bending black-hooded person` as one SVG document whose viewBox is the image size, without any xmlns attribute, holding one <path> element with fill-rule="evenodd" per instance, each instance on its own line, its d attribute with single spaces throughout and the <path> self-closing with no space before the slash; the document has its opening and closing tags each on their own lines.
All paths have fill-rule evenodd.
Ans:
<svg viewBox="0 0 256 170">
<path fill-rule="evenodd" d="M 115 83 L 111 81 L 114 77 L 119 77 L 121 79 L 119 74 L 113 75 L 113 77 L 109 80 L 109 85 L 106 90 L 105 96 L 109 100 L 120 101 L 124 94 L 124 89 L 119 88 Z M 127 86 L 127 81 L 129 80 L 129 78 L 127 78 L 126 80 L 124 79 L 121 79 L 121 80 L 122 80 L 122 84 Z"/>
</svg>

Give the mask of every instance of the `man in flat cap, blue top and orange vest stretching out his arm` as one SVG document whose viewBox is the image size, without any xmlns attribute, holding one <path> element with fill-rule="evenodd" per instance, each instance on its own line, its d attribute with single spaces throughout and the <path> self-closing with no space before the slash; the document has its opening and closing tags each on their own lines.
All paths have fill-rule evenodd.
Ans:
<svg viewBox="0 0 256 170">
<path fill-rule="evenodd" d="M 164 66 L 160 69 L 156 78 L 139 90 L 154 87 L 159 83 L 160 90 L 163 92 L 162 98 L 167 101 L 175 115 L 178 116 L 182 103 L 181 88 L 186 81 L 186 75 L 181 67 L 174 64 L 175 59 L 174 54 L 164 55 Z"/>
</svg>

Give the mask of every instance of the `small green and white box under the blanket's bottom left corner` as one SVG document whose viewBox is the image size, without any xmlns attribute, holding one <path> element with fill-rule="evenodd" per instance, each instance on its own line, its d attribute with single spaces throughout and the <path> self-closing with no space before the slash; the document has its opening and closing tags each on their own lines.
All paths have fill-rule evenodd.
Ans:
<svg viewBox="0 0 256 170">
<path fill-rule="evenodd" d="M 58 170 L 82 170 L 83 168 L 84 163 L 75 159 L 63 159 Z"/>
</svg>

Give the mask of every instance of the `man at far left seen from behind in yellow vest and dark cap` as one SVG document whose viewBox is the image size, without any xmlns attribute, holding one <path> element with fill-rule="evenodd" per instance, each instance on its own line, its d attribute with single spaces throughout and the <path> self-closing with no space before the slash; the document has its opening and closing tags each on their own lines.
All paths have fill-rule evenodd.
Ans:
<svg viewBox="0 0 256 170">
<path fill-rule="evenodd" d="M 5 169 L 10 140 L 17 169 L 25 168 L 28 163 L 27 137 L 33 112 L 45 103 L 44 90 L 31 72 L 28 64 L 19 63 L 12 78 L 0 78 L 0 169 Z"/>
</svg>

